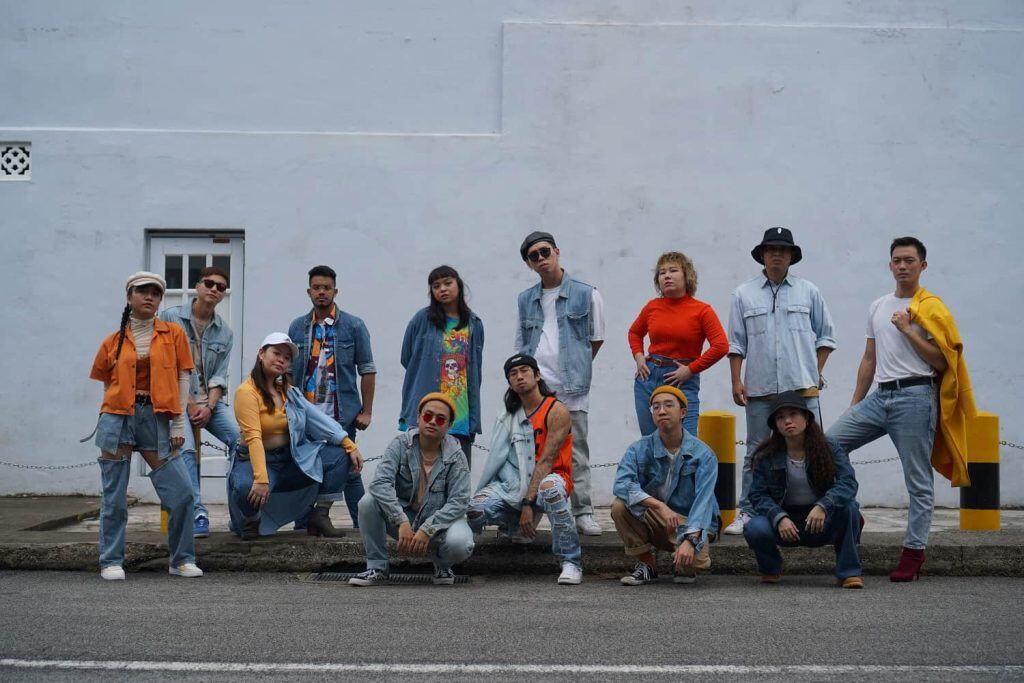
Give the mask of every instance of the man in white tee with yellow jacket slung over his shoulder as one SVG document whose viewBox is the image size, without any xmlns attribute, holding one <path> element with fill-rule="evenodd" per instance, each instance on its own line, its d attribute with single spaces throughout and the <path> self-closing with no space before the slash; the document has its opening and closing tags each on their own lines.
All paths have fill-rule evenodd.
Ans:
<svg viewBox="0 0 1024 683">
<path fill-rule="evenodd" d="M 916 238 L 896 238 L 889 254 L 896 291 L 868 309 L 853 400 L 828 436 L 848 453 L 883 434 L 896 446 L 910 505 L 899 565 L 889 579 L 907 582 L 925 563 L 935 504 L 932 466 L 954 486 L 970 483 L 966 424 L 975 408 L 953 317 L 920 284 L 928 267 L 925 245 Z M 878 388 L 868 393 L 872 380 Z"/>
</svg>

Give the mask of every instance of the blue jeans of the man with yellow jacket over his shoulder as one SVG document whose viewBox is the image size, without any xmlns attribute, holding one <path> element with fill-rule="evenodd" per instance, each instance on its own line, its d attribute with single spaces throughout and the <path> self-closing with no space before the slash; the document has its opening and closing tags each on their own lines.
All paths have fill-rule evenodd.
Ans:
<svg viewBox="0 0 1024 683">
<path fill-rule="evenodd" d="M 935 509 L 932 445 L 938 414 L 935 386 L 877 389 L 851 407 L 828 430 L 828 436 L 847 453 L 889 434 L 903 465 L 903 482 L 910 498 L 903 546 L 912 550 L 923 550 L 928 545 L 932 526 Z"/>
</svg>

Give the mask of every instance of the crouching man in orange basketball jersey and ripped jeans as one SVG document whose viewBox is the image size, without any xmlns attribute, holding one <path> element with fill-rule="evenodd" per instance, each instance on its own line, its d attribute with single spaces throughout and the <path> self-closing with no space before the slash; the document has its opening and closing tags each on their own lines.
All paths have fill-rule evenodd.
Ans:
<svg viewBox="0 0 1024 683">
<path fill-rule="evenodd" d="M 529 543 L 547 513 L 551 552 L 562 563 L 558 583 L 583 581 L 580 535 L 569 508 L 572 494 L 572 419 L 525 354 L 505 361 L 506 413 L 498 418 L 490 456 L 470 503 L 469 524 L 479 533 L 498 524 L 514 541 Z"/>
</svg>

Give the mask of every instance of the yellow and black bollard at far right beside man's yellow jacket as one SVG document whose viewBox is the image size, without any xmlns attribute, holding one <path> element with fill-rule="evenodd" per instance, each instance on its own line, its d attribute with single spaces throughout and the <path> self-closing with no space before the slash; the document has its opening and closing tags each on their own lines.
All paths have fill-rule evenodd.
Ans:
<svg viewBox="0 0 1024 683">
<path fill-rule="evenodd" d="M 999 416 L 979 412 L 968 422 L 967 471 L 971 485 L 961 488 L 961 530 L 998 531 Z"/>
</svg>

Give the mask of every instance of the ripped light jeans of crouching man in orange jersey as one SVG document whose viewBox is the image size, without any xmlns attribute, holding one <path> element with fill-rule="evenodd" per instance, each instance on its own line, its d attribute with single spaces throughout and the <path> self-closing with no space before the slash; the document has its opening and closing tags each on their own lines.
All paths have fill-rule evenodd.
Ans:
<svg viewBox="0 0 1024 683">
<path fill-rule="evenodd" d="M 494 488 L 485 487 L 469 502 L 467 515 L 469 526 L 479 533 L 487 524 L 497 524 L 510 535 L 518 532 L 521 510 L 506 502 Z M 551 552 L 563 562 L 582 566 L 583 553 L 580 550 L 580 533 L 575 528 L 575 518 L 569 510 L 565 482 L 557 474 L 549 474 L 541 480 L 534 504 L 535 525 L 541 515 L 547 513 L 551 521 Z"/>
</svg>

